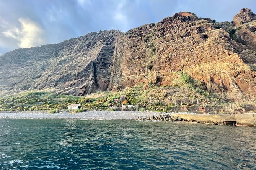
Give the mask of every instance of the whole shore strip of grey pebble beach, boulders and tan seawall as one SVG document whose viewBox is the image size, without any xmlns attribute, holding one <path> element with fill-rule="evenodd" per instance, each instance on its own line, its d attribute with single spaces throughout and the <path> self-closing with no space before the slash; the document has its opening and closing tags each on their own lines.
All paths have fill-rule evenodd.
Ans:
<svg viewBox="0 0 256 170">
<path fill-rule="evenodd" d="M 256 114 L 196 114 L 188 112 L 157 113 L 140 111 L 87 111 L 82 113 L 47 113 L 45 111 L 0 112 L 0 119 L 76 119 L 76 120 L 146 120 L 175 121 L 256 127 Z"/>
</svg>

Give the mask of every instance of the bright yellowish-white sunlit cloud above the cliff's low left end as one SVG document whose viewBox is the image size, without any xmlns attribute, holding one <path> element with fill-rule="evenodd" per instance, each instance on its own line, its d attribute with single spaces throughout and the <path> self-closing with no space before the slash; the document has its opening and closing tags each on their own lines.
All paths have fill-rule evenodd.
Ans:
<svg viewBox="0 0 256 170">
<path fill-rule="evenodd" d="M 17 40 L 20 48 L 30 48 L 44 44 L 44 30 L 29 18 L 19 18 L 20 28 L 14 27 L 2 32 L 5 37 Z"/>
</svg>

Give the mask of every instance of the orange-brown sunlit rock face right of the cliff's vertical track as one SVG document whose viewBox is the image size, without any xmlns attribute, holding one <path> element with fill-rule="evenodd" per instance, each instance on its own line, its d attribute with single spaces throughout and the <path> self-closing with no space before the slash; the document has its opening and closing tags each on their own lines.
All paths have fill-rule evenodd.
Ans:
<svg viewBox="0 0 256 170">
<path fill-rule="evenodd" d="M 121 88 L 142 82 L 170 85 L 174 73 L 184 70 L 217 92 L 239 88 L 255 94 L 256 74 L 246 64 L 254 62 L 255 53 L 208 19 L 178 13 L 122 36 L 115 70 Z"/>
</svg>

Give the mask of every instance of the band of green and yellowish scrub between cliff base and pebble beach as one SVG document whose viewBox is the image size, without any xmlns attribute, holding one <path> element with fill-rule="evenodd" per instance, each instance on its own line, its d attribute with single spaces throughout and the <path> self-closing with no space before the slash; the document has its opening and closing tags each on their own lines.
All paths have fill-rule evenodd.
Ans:
<svg viewBox="0 0 256 170">
<path fill-rule="evenodd" d="M 60 109 L 67 109 L 70 104 L 80 104 L 82 108 L 72 112 L 86 110 L 133 110 L 144 111 L 186 111 L 195 112 L 205 103 L 207 112 L 234 113 L 255 110 L 255 101 L 229 92 L 217 94 L 205 90 L 205 85 L 198 82 L 184 72 L 178 72 L 176 79 L 170 86 L 159 86 L 157 83 L 147 82 L 135 87 L 125 88 L 119 92 L 99 92 L 87 96 L 57 95 L 48 92 L 29 92 L 15 96 L 0 98 L 0 109 L 17 110 L 49 110 L 57 113 Z M 122 100 L 121 100 L 122 99 Z M 136 108 L 121 107 L 131 104 Z M 198 103 L 198 104 L 197 104 Z"/>
</svg>

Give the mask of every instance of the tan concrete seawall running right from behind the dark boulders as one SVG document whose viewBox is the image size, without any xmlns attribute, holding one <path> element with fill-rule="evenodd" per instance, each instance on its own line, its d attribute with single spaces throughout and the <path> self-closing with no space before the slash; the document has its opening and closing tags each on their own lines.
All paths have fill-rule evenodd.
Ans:
<svg viewBox="0 0 256 170">
<path fill-rule="evenodd" d="M 218 125 L 256 126 L 256 113 L 248 114 L 183 114 L 173 113 L 188 122 L 210 123 Z"/>
</svg>

